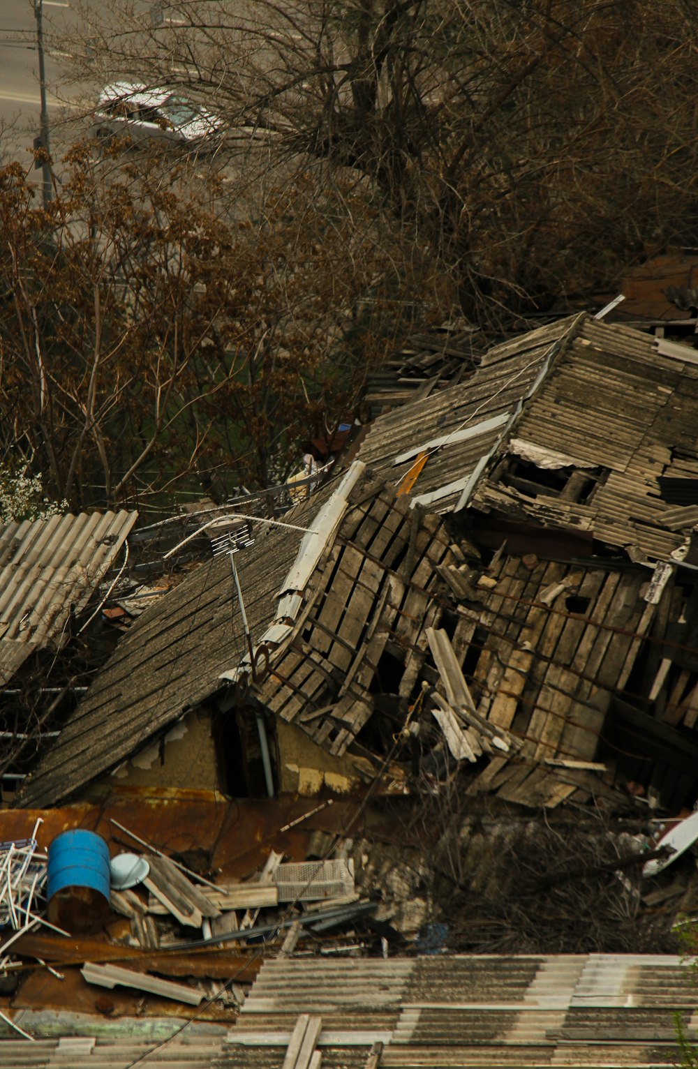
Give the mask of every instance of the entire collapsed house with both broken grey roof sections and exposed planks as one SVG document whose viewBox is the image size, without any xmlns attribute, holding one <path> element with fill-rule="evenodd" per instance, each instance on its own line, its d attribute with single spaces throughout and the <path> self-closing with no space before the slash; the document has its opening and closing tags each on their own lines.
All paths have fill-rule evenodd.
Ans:
<svg viewBox="0 0 698 1069">
<path fill-rule="evenodd" d="M 20 804 L 144 746 L 167 768 L 202 709 L 231 793 L 438 790 L 466 765 L 526 805 L 692 803 L 696 415 L 685 346 L 588 315 L 497 346 L 144 613 Z"/>
</svg>

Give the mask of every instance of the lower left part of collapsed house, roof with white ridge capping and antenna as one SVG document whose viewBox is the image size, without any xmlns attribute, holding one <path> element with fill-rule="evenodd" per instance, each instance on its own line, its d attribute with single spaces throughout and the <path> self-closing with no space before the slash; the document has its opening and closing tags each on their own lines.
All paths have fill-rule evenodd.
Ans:
<svg viewBox="0 0 698 1069">
<path fill-rule="evenodd" d="M 386 690 L 388 641 L 408 650 L 416 631 L 438 623 L 437 569 L 453 559 L 443 521 L 412 511 L 407 498 L 357 463 L 255 538 L 235 556 L 239 592 L 223 555 L 134 623 L 26 781 L 21 805 L 55 805 L 144 747 L 151 761 L 161 754 L 167 765 L 173 726 L 201 709 L 233 765 L 234 781 L 219 785 L 232 793 L 265 793 L 268 786 L 268 770 L 263 776 L 260 768 L 263 731 L 257 741 L 261 710 L 297 724 L 319 744 L 300 765 L 325 770 L 314 789 L 347 789 L 374 774 L 381 758 L 357 737 Z M 417 683 L 417 662 L 410 672 Z M 385 708 L 385 715 L 389 731 L 399 730 L 398 712 Z M 273 727 L 273 718 L 265 724 Z M 192 744 L 191 735 L 183 741 L 189 757 Z M 323 763 L 321 746 L 337 758 L 351 747 L 347 763 Z M 277 788 L 282 750 L 277 740 Z M 181 786 L 197 786 L 190 761 L 184 771 Z"/>
</svg>

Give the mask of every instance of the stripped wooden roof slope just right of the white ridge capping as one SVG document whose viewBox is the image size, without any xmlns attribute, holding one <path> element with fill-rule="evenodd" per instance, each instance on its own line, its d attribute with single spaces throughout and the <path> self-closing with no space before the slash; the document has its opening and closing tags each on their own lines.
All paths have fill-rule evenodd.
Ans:
<svg viewBox="0 0 698 1069">
<path fill-rule="evenodd" d="M 305 594 L 312 609 L 260 687 L 273 712 L 337 756 L 374 714 L 386 664 L 395 697 L 409 694 L 424 628 L 440 619 L 439 571 L 454 557 L 439 517 L 410 505 L 381 482 L 350 495 Z M 368 761 L 359 773 L 372 774 Z"/>
</svg>

